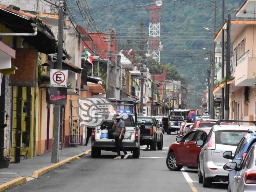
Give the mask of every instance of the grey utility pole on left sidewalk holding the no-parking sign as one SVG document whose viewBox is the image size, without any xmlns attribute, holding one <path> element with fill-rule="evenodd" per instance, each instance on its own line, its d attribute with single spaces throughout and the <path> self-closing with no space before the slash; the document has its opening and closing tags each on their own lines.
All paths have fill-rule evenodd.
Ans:
<svg viewBox="0 0 256 192">
<path fill-rule="evenodd" d="M 59 1 L 59 29 L 58 29 L 58 52 L 57 62 L 54 64 L 54 69 L 62 69 L 62 54 L 63 54 L 63 27 L 64 27 L 64 0 Z M 60 123 L 61 105 L 54 106 L 54 130 L 51 151 L 51 162 L 59 161 L 59 123 Z"/>
</svg>

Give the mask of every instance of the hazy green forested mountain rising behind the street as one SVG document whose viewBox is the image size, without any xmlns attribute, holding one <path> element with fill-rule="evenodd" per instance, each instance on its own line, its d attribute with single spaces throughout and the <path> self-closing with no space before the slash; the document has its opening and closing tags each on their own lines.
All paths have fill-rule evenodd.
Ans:
<svg viewBox="0 0 256 192">
<path fill-rule="evenodd" d="M 242 2 L 243 0 L 225 0 L 225 18 L 231 14 L 234 19 L 235 9 Z M 86 14 L 84 18 L 78 5 L 80 11 Z M 89 22 L 91 31 L 95 31 L 95 27 L 102 32 L 107 32 L 108 27 L 115 28 L 120 49 L 133 48 L 135 52 L 138 50 L 134 44 L 139 36 L 137 31 L 141 19 L 144 20 L 144 30 L 148 35 L 148 7 L 154 5 L 153 0 L 79 0 L 78 5 L 76 0 L 69 0 L 69 10 L 77 23 L 86 28 Z M 90 11 L 85 8 L 87 6 Z M 221 7 L 222 0 L 217 0 L 216 31 L 222 24 Z M 189 87 L 206 87 L 204 84 L 209 68 L 207 51 L 213 50 L 213 33 L 210 32 L 214 31 L 213 14 L 214 4 L 210 0 L 163 0 L 161 62 L 176 65 Z M 200 93 L 201 91 L 197 90 Z"/>
</svg>

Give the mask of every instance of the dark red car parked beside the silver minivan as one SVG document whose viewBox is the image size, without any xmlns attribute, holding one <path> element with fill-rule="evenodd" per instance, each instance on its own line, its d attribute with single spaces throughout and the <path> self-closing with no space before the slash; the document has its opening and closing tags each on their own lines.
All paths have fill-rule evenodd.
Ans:
<svg viewBox="0 0 256 192">
<path fill-rule="evenodd" d="M 190 130 L 184 137 L 177 137 L 168 150 L 166 165 L 171 171 L 179 171 L 183 166 L 197 167 L 201 147 L 197 140 L 205 140 L 211 128 Z"/>
</svg>

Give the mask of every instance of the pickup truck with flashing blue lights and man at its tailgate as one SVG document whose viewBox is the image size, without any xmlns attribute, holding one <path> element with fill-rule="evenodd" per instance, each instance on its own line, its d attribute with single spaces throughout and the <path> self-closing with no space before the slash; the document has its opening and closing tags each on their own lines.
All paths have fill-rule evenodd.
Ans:
<svg viewBox="0 0 256 192">
<path fill-rule="evenodd" d="M 127 151 L 132 151 L 133 158 L 140 157 L 140 129 L 137 126 L 137 113 L 136 104 L 128 101 L 115 101 L 116 111 L 125 111 L 126 119 L 125 122 L 125 137 L 123 139 L 123 146 Z M 127 108 L 129 108 L 127 110 Z M 133 112 L 133 113 L 128 113 Z M 101 150 L 116 152 L 115 138 L 112 136 L 112 125 L 111 122 L 104 121 L 102 125 L 95 127 L 92 130 L 92 152 L 93 158 L 101 155 Z M 102 138 L 101 132 L 103 130 L 108 131 L 108 138 Z"/>
</svg>

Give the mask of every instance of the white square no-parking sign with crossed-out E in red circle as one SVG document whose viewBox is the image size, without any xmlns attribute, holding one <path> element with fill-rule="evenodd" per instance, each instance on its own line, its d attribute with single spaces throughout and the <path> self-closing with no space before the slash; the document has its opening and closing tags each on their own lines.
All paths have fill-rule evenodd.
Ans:
<svg viewBox="0 0 256 192">
<path fill-rule="evenodd" d="M 51 87 L 67 87 L 67 70 L 51 69 Z"/>
</svg>

